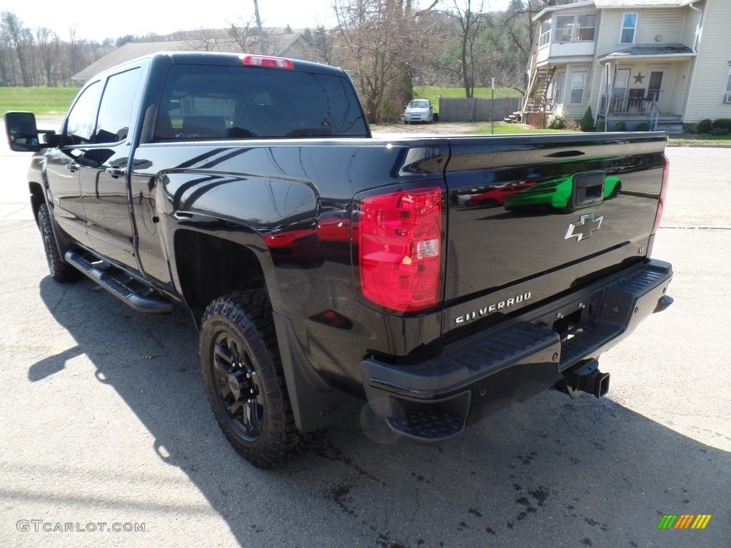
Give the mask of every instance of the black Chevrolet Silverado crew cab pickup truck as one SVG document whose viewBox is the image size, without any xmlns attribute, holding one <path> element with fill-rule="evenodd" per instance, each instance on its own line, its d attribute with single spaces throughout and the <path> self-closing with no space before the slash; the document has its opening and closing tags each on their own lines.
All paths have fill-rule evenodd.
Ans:
<svg viewBox="0 0 731 548">
<path fill-rule="evenodd" d="M 266 468 L 364 400 L 416 441 L 548 388 L 667 308 L 660 133 L 374 138 L 346 72 L 158 53 L 86 83 L 34 151 L 50 275 L 188 308 L 235 449 Z"/>
</svg>

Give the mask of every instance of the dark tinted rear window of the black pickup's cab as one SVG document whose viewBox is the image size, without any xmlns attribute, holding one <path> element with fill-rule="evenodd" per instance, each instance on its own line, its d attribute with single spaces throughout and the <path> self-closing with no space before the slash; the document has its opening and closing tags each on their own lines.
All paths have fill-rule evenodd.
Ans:
<svg viewBox="0 0 731 548">
<path fill-rule="evenodd" d="M 154 141 L 366 137 L 360 103 L 338 76 L 244 66 L 174 65 Z"/>
</svg>

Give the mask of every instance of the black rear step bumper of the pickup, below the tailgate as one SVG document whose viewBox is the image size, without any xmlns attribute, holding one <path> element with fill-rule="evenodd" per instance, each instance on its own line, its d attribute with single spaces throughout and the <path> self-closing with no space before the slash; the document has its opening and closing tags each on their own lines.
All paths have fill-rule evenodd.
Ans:
<svg viewBox="0 0 731 548">
<path fill-rule="evenodd" d="M 448 343 L 426 362 L 366 359 L 368 403 L 407 438 L 451 438 L 471 420 L 570 382 L 643 319 L 667 308 L 672 277 L 668 263 L 648 261 Z"/>
</svg>

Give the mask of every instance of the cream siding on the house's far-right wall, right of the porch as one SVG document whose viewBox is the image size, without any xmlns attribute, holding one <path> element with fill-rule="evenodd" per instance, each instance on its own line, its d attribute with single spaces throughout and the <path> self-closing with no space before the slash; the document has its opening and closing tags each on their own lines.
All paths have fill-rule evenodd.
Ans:
<svg viewBox="0 0 731 548">
<path fill-rule="evenodd" d="M 723 102 L 731 47 L 731 2 L 708 0 L 703 18 L 703 31 L 698 58 L 686 106 L 686 123 L 696 123 L 703 118 L 731 118 L 731 104 Z"/>
</svg>

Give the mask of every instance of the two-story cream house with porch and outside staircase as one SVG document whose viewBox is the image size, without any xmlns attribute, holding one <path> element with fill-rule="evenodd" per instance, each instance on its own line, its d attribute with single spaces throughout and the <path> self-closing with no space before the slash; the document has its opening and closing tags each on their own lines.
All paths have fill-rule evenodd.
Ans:
<svg viewBox="0 0 731 548">
<path fill-rule="evenodd" d="M 600 128 L 669 133 L 731 118 L 730 0 L 575 0 L 534 22 L 524 118 L 591 107 Z"/>
</svg>

